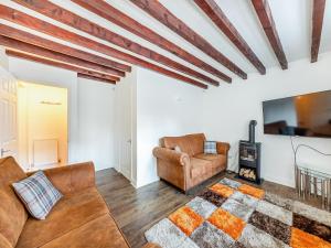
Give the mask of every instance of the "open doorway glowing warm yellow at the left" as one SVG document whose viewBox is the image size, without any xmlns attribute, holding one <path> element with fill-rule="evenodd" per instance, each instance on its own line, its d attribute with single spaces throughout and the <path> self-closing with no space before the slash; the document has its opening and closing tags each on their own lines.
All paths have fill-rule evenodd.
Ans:
<svg viewBox="0 0 331 248">
<path fill-rule="evenodd" d="M 67 163 L 67 89 L 19 82 L 18 150 L 26 171 Z"/>
</svg>

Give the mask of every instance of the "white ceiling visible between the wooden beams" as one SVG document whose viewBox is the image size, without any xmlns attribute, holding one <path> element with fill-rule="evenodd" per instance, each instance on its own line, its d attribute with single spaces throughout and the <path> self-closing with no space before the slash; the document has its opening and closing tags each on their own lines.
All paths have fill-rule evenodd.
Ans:
<svg viewBox="0 0 331 248">
<path fill-rule="evenodd" d="M 215 66 L 216 68 L 220 68 L 222 72 L 225 72 L 227 75 L 232 76 L 233 78 L 237 78 L 237 76 L 235 76 L 228 69 L 226 69 L 221 64 L 215 62 L 213 58 L 209 57 L 203 52 L 197 50 L 195 46 L 191 45 L 185 40 L 177 35 L 175 33 L 173 33 L 171 30 L 169 30 L 167 26 L 164 26 L 163 24 L 154 20 L 152 17 L 148 15 L 146 12 L 140 10 L 129 0 L 106 0 L 106 1 L 109 4 L 114 6 L 115 8 L 119 9 L 120 11 L 127 13 L 135 20 L 139 21 L 140 23 L 157 31 L 159 34 L 172 41 L 173 43 L 179 44 L 182 48 L 186 50 L 188 52 L 191 52 L 195 56 L 207 62 L 209 64 Z M 250 47 L 256 53 L 258 58 L 263 62 L 263 64 L 267 68 L 279 66 L 278 61 L 256 17 L 255 10 L 252 7 L 250 0 L 215 0 L 215 1 L 218 3 L 218 6 L 227 15 L 229 21 L 234 24 L 234 26 L 239 31 L 239 33 L 245 39 L 245 41 L 250 45 Z M 66 26 L 62 23 L 58 23 L 41 14 L 38 14 L 34 11 L 31 11 L 14 2 L 11 2 L 10 0 L 0 0 L 0 2 L 2 4 L 18 9 L 25 13 L 33 14 L 36 18 L 41 18 L 45 21 L 55 23 L 67 30 L 74 31 L 79 34 L 84 34 L 85 36 L 88 36 L 93 40 L 96 40 L 109 46 L 119 48 L 105 41 L 93 37 L 88 34 L 76 31 L 70 26 Z M 167 55 L 168 57 L 171 57 L 172 60 L 178 61 L 191 68 L 207 74 L 201 71 L 200 68 L 186 63 L 185 61 L 174 56 L 173 54 L 159 48 L 154 44 L 151 44 L 150 42 L 147 42 L 132 33 L 129 33 L 128 31 L 121 29 L 120 26 L 117 26 L 116 24 L 113 24 L 109 21 L 96 14 L 88 12 L 87 10 L 81 8 L 79 6 L 68 0 L 52 0 L 52 2 L 65 9 L 68 9 L 93 22 L 96 22 L 111 30 L 113 32 L 119 33 L 130 40 L 134 40 L 135 42 L 138 42 L 141 45 L 148 46 L 156 52 Z M 246 57 L 244 57 L 238 52 L 238 50 L 227 40 L 227 37 L 214 25 L 214 23 L 195 6 L 193 0 L 160 0 L 160 2 L 164 7 L 167 7 L 174 15 L 177 15 L 179 19 L 185 22 L 191 29 L 193 29 L 205 40 L 207 40 L 214 47 L 216 47 L 224 55 L 231 58 L 235 64 L 237 64 L 241 68 L 243 68 L 246 73 L 249 74 L 249 73 L 257 72 L 256 68 L 246 60 Z M 297 61 L 305 57 L 310 60 L 312 0 L 269 0 L 269 6 L 288 62 Z M 6 23 L 6 24 L 10 24 L 11 26 L 20 28 L 18 25 L 11 24 L 2 20 L 0 20 L 0 23 Z M 26 30 L 23 28 L 20 29 Z M 35 31 L 31 31 L 31 32 L 44 37 L 52 39 L 51 36 L 40 34 Z M 58 42 L 58 40 L 55 41 Z M 61 42 L 61 43 L 68 44 L 74 47 L 78 47 L 67 42 Z M 88 51 L 86 48 L 84 50 Z M 125 51 L 122 48 L 119 50 Z M 328 51 L 331 51 L 331 2 L 330 1 L 327 1 L 320 53 L 328 52 Z M 126 52 L 130 53 L 128 51 Z M 139 55 L 136 56 L 141 57 Z"/>
</svg>

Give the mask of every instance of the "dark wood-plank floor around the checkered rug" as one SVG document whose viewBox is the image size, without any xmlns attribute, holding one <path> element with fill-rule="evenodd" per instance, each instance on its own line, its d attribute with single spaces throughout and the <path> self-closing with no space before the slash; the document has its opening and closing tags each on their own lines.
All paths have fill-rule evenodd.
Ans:
<svg viewBox="0 0 331 248">
<path fill-rule="evenodd" d="M 136 190 L 126 177 L 114 169 L 97 172 L 96 181 L 99 192 L 106 200 L 127 240 L 132 248 L 140 248 L 146 244 L 143 236 L 146 230 L 225 175 L 234 176 L 234 174 L 221 173 L 186 195 L 163 181 Z M 260 187 L 282 197 L 298 200 L 291 187 L 266 181 Z M 305 203 L 320 207 L 317 200 L 309 200 Z"/>
</svg>

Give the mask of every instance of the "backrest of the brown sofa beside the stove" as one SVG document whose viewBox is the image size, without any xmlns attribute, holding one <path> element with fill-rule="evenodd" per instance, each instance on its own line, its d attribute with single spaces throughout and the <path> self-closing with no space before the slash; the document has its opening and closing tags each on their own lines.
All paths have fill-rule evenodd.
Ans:
<svg viewBox="0 0 331 248">
<path fill-rule="evenodd" d="M 190 157 L 203 153 L 203 145 L 205 136 L 203 133 L 193 133 L 181 137 L 164 137 L 162 138 L 162 145 L 168 149 L 174 149 L 177 145 L 182 152 Z"/>
</svg>

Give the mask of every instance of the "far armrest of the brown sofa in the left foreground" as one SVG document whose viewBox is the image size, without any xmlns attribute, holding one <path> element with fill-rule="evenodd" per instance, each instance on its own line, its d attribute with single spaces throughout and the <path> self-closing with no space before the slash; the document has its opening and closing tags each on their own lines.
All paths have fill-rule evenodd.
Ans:
<svg viewBox="0 0 331 248">
<path fill-rule="evenodd" d="M 93 162 L 52 168 L 44 170 L 43 172 L 53 185 L 64 195 L 95 186 L 95 170 Z"/>
</svg>

